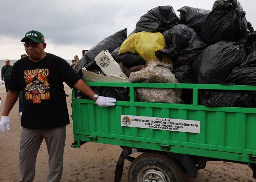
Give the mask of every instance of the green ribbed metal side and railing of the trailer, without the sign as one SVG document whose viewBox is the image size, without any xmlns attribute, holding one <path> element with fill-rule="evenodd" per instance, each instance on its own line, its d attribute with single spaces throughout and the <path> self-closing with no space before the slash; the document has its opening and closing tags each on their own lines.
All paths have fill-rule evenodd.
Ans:
<svg viewBox="0 0 256 182">
<path fill-rule="evenodd" d="M 197 103 L 199 89 L 255 91 L 255 86 L 159 83 L 99 83 L 89 86 L 129 87 L 130 101 L 99 107 L 93 100 L 76 99 L 72 91 L 74 141 L 106 143 L 169 151 L 239 162 L 255 162 L 256 108 L 206 107 Z M 193 104 L 136 102 L 138 87 L 193 89 Z M 200 133 L 121 126 L 121 115 L 199 120 Z M 167 146 L 163 147 L 162 146 Z"/>
</svg>

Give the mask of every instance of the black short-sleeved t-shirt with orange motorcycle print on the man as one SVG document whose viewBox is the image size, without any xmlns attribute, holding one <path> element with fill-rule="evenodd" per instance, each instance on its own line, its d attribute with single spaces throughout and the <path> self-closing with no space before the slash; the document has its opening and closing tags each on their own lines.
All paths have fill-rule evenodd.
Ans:
<svg viewBox="0 0 256 182">
<path fill-rule="evenodd" d="M 80 79 L 62 58 L 46 53 L 34 63 L 29 57 L 18 60 L 11 72 L 8 89 L 22 90 L 21 126 L 48 129 L 69 124 L 63 82 L 70 88 Z"/>
</svg>

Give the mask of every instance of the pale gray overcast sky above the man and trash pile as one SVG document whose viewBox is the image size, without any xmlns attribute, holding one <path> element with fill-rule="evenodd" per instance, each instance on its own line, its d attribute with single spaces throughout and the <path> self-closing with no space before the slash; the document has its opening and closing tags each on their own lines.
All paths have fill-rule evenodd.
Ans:
<svg viewBox="0 0 256 182">
<path fill-rule="evenodd" d="M 82 58 L 105 37 L 127 28 L 135 29 L 148 10 L 171 5 L 211 9 L 214 0 L 0 0 L 0 59 L 20 59 L 26 54 L 21 39 L 30 30 L 40 31 L 47 44 L 45 51 L 63 59 Z M 256 29 L 255 0 L 240 0 L 246 20 Z"/>
</svg>

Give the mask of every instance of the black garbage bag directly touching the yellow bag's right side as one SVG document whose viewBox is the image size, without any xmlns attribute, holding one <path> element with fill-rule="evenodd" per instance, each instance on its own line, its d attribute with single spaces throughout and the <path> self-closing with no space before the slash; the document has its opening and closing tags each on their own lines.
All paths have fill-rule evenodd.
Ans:
<svg viewBox="0 0 256 182">
<path fill-rule="evenodd" d="M 197 55 L 207 47 L 207 44 L 202 41 L 193 28 L 187 25 L 175 25 L 164 31 L 163 35 L 165 37 L 165 50 L 158 50 L 156 56 L 161 55 L 162 52 L 168 59 L 173 60 L 174 65 L 192 63 Z M 177 45 L 178 50 L 174 49 L 173 45 Z M 161 57 L 159 56 L 159 58 Z"/>
</svg>

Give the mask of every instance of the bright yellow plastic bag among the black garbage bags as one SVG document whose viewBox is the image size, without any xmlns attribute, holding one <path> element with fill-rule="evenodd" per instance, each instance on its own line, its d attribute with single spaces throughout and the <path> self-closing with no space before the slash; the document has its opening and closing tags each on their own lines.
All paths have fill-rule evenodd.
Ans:
<svg viewBox="0 0 256 182">
<path fill-rule="evenodd" d="M 139 54 L 146 62 L 157 59 L 155 51 L 165 48 L 165 37 L 162 33 L 138 32 L 130 35 L 120 47 L 118 55 L 125 52 Z"/>
</svg>

